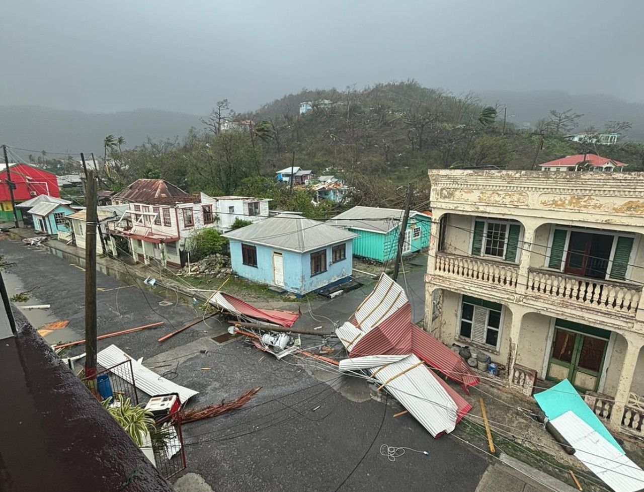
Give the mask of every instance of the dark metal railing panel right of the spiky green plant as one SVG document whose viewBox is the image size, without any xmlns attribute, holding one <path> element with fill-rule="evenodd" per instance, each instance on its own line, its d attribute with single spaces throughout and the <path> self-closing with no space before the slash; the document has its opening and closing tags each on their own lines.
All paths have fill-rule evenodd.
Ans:
<svg viewBox="0 0 644 492">
<path fill-rule="evenodd" d="M 156 419 L 156 428 L 162 431 L 164 437 L 164 439 L 153 439 L 152 441 L 156 469 L 167 480 L 187 468 L 181 419 L 167 415 Z"/>
</svg>

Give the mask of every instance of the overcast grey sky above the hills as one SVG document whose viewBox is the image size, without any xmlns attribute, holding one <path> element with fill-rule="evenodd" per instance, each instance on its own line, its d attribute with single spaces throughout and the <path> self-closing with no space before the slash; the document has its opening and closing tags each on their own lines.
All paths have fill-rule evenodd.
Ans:
<svg viewBox="0 0 644 492">
<path fill-rule="evenodd" d="M 2 17 L 0 104 L 205 114 L 408 78 L 644 100 L 642 0 L 8 0 Z"/>
</svg>

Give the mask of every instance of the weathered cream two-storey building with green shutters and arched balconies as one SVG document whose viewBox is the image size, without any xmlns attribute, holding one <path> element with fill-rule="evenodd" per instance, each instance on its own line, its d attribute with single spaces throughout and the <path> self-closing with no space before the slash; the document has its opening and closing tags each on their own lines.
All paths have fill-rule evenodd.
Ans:
<svg viewBox="0 0 644 492">
<path fill-rule="evenodd" d="M 644 437 L 644 173 L 429 171 L 426 327 Z M 434 232 L 436 231 L 436 232 Z"/>
</svg>

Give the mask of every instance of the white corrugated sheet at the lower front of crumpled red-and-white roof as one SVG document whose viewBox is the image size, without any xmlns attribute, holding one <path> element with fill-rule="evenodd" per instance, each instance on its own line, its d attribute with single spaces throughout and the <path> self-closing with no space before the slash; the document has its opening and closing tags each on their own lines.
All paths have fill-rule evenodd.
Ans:
<svg viewBox="0 0 644 492">
<path fill-rule="evenodd" d="M 368 359 L 373 359 L 368 357 Z M 358 361 L 359 363 L 360 361 Z M 342 364 L 342 363 L 341 363 Z M 439 379 L 415 355 L 372 368 L 372 377 L 437 437 L 456 427 L 459 411 Z"/>
</svg>

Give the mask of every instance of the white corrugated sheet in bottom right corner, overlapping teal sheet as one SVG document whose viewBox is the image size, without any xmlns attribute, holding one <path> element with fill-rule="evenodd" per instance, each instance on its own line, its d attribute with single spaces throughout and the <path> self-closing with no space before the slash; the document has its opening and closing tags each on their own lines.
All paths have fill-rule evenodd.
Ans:
<svg viewBox="0 0 644 492">
<path fill-rule="evenodd" d="M 644 471 L 569 410 L 551 421 L 574 449 L 574 456 L 615 492 L 644 489 Z"/>
</svg>

